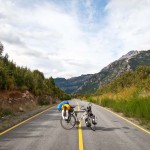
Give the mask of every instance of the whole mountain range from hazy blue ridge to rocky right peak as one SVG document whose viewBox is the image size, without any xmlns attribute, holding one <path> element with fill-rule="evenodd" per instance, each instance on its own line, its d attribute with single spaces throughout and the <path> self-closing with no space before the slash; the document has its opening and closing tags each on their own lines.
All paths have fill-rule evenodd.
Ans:
<svg viewBox="0 0 150 150">
<path fill-rule="evenodd" d="M 129 51 L 127 54 L 110 63 L 96 74 L 73 78 L 75 79 L 75 84 L 71 79 L 66 80 L 64 83 L 61 82 L 62 84 L 60 84 L 57 79 L 54 81 L 58 87 L 65 92 L 69 91 L 70 93 L 79 94 L 95 93 L 103 85 L 110 83 L 112 80 L 119 77 L 126 71 L 135 70 L 139 65 L 150 66 L 150 50 Z M 70 86 L 70 84 L 72 84 L 72 86 Z"/>
</svg>

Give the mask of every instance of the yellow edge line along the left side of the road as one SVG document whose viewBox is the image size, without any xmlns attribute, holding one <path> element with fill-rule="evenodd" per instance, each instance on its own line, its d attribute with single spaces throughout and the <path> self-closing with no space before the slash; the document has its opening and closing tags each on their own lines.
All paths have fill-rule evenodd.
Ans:
<svg viewBox="0 0 150 150">
<path fill-rule="evenodd" d="M 54 106 L 53 106 L 53 107 L 54 107 Z M 0 133 L 0 136 L 3 135 L 3 134 L 5 134 L 5 133 L 7 133 L 7 132 L 9 132 L 10 130 L 12 130 L 12 129 L 18 127 L 18 126 L 20 126 L 21 124 L 24 124 L 25 122 L 27 122 L 27 121 L 29 121 L 29 120 L 31 120 L 31 119 L 33 119 L 33 118 L 39 116 L 40 114 L 42 114 L 42 113 L 48 111 L 48 110 L 51 109 L 51 108 L 52 108 L 52 107 L 50 107 L 50 108 L 48 108 L 48 109 L 46 109 L 46 110 L 44 110 L 44 111 L 42 111 L 42 112 L 40 112 L 40 113 L 38 113 L 38 114 L 36 114 L 36 115 L 34 115 L 34 116 L 32 116 L 32 117 L 26 119 L 26 120 L 24 120 L 24 121 L 22 121 L 22 122 L 20 122 L 20 123 L 18 123 L 18 124 L 16 124 L 16 125 L 14 125 L 13 127 L 11 127 L 11 128 L 9 128 L 9 129 L 7 129 L 7 130 L 1 132 L 1 133 Z"/>
</svg>

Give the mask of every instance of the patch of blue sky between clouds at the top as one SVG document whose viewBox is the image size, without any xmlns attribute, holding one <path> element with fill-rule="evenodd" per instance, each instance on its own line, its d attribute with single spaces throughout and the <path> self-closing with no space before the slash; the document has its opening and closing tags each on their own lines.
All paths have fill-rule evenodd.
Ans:
<svg viewBox="0 0 150 150">
<path fill-rule="evenodd" d="M 83 30 L 96 32 L 96 27 L 103 24 L 106 15 L 104 8 L 108 0 L 16 0 L 16 3 L 20 7 L 31 9 L 43 3 L 55 5 L 65 13 L 75 13 L 83 24 Z"/>
</svg>

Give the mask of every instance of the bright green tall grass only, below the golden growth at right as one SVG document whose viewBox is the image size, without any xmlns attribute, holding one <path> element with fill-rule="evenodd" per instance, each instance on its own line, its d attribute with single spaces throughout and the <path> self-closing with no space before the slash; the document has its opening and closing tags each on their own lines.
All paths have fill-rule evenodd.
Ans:
<svg viewBox="0 0 150 150">
<path fill-rule="evenodd" d="M 128 117 L 150 121 L 150 97 L 112 100 L 104 98 L 101 105 L 110 107 L 116 112 L 123 112 Z"/>
</svg>

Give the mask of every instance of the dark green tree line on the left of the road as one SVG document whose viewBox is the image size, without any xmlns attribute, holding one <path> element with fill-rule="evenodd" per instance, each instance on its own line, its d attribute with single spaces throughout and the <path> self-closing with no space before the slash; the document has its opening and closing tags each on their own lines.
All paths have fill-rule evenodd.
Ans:
<svg viewBox="0 0 150 150">
<path fill-rule="evenodd" d="M 45 78 L 39 70 L 17 66 L 3 56 L 4 46 L 0 43 L 0 90 L 29 90 L 36 96 L 50 95 L 59 99 L 69 99 L 69 95 L 59 89 L 52 77 Z"/>
</svg>

